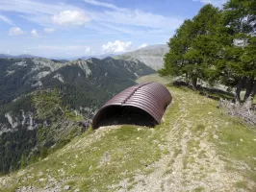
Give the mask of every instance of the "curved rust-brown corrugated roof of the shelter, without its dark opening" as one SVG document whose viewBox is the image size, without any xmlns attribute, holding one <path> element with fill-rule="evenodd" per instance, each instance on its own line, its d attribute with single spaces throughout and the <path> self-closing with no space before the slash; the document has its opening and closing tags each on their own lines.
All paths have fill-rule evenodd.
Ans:
<svg viewBox="0 0 256 192">
<path fill-rule="evenodd" d="M 118 93 L 102 108 L 100 108 L 92 120 L 92 128 L 98 127 L 103 111 L 106 108 L 134 107 L 141 108 L 150 114 L 160 124 L 166 107 L 171 102 L 171 95 L 166 86 L 158 83 L 136 84 Z"/>
</svg>

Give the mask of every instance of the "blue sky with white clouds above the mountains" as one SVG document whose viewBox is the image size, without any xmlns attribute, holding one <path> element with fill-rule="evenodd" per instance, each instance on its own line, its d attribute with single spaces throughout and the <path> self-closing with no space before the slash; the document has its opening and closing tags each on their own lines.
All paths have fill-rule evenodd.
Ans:
<svg viewBox="0 0 256 192">
<path fill-rule="evenodd" d="M 225 0 L 0 0 L 0 53 L 72 58 L 164 44 Z"/>
</svg>

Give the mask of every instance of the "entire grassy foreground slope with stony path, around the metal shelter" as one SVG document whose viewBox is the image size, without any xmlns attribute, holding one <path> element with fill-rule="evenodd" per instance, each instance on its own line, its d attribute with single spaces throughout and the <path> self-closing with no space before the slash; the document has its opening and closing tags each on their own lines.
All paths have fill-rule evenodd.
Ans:
<svg viewBox="0 0 256 192">
<path fill-rule="evenodd" d="M 155 129 L 106 127 L 0 178 L 0 191 L 254 191 L 256 136 L 187 88 Z"/>
</svg>

